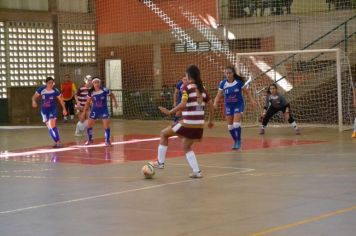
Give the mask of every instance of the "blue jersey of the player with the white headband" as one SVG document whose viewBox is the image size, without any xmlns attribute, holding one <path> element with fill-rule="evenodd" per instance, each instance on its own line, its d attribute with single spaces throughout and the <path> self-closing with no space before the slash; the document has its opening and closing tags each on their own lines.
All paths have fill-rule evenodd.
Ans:
<svg viewBox="0 0 356 236">
<path fill-rule="evenodd" d="M 89 117 L 92 119 L 106 119 L 109 117 L 107 96 L 111 94 L 111 91 L 107 88 L 100 88 L 99 91 L 90 91 L 88 97 L 92 99 L 92 107 Z"/>
</svg>

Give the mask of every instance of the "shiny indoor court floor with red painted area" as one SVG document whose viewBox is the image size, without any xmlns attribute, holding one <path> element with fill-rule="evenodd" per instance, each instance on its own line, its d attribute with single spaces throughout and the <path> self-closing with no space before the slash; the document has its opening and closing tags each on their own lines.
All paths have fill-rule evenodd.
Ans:
<svg viewBox="0 0 356 236">
<path fill-rule="evenodd" d="M 145 179 L 170 121 L 101 122 L 94 145 L 59 124 L 0 126 L 0 235 L 356 235 L 356 139 L 336 128 L 242 130 L 231 150 L 226 124 L 193 146 L 202 179 L 190 179 L 181 141 Z"/>
</svg>

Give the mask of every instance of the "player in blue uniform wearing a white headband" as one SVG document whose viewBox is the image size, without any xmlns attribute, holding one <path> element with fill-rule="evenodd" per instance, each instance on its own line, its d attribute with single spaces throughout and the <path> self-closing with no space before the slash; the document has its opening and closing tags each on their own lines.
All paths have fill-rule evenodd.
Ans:
<svg viewBox="0 0 356 236">
<path fill-rule="evenodd" d="M 107 105 L 107 96 L 114 102 L 114 107 L 117 108 L 118 104 L 114 94 L 105 87 L 101 86 L 101 80 L 98 77 L 93 78 L 92 80 L 93 87 L 89 90 L 88 99 L 84 106 L 84 112 L 89 109 L 91 104 L 91 110 L 88 119 L 88 140 L 85 142 L 85 145 L 90 145 L 93 143 L 93 126 L 95 124 L 95 120 L 102 119 L 103 126 L 105 130 L 105 146 L 110 147 L 110 122 L 109 122 L 109 110 Z"/>
</svg>

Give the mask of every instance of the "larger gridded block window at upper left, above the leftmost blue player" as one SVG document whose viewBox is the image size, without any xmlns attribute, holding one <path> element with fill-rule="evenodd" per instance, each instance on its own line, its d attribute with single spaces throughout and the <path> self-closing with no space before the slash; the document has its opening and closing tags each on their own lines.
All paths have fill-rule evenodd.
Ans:
<svg viewBox="0 0 356 236">
<path fill-rule="evenodd" d="M 36 86 L 54 77 L 50 23 L 7 22 L 10 86 Z"/>
</svg>

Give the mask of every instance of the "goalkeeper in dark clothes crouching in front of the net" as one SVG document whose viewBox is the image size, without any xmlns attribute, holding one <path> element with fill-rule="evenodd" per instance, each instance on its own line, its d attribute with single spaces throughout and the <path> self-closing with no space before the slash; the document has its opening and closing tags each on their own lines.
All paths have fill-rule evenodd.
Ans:
<svg viewBox="0 0 356 236">
<path fill-rule="evenodd" d="M 260 119 L 262 122 L 260 134 L 263 135 L 265 133 L 265 128 L 267 127 L 268 121 L 274 114 L 279 111 L 283 113 L 284 119 L 288 120 L 289 124 L 292 125 L 295 134 L 299 135 L 300 131 L 298 129 L 297 123 L 290 113 L 289 102 L 287 102 L 286 98 L 278 92 L 276 84 L 271 84 L 267 91 L 266 105 L 263 108 Z"/>
</svg>

